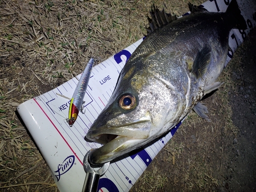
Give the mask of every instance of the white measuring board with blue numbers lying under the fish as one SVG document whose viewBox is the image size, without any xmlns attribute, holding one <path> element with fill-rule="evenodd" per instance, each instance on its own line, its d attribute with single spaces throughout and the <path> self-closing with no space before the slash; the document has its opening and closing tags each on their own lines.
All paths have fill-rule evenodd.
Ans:
<svg viewBox="0 0 256 192">
<path fill-rule="evenodd" d="M 224 12 L 228 3 L 228 0 L 211 0 L 202 6 L 209 11 Z M 227 62 L 232 58 L 233 52 L 243 42 L 250 29 L 256 25 L 255 3 L 252 1 L 249 3 L 238 1 L 238 3 L 248 29 L 245 31 L 234 29 L 230 32 L 231 50 L 228 53 Z M 79 113 L 73 127 L 66 122 L 70 100 L 57 94 L 71 98 L 78 82 L 76 78 L 17 107 L 20 117 L 49 165 L 61 192 L 82 190 L 86 177 L 82 165 L 83 157 L 91 148 L 101 146 L 101 144 L 84 140 L 84 137 L 110 99 L 126 60 L 141 42 L 142 39 L 138 40 L 93 68 L 84 97 L 86 113 Z M 79 79 L 80 76 L 81 74 L 77 78 Z M 111 161 L 108 171 L 100 178 L 98 191 L 129 191 L 162 147 L 173 137 L 180 124 L 164 137 Z"/>
</svg>

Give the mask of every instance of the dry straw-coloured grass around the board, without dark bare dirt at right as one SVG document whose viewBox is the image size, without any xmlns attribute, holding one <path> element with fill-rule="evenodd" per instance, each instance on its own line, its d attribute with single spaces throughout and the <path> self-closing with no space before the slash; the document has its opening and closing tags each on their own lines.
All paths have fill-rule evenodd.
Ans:
<svg viewBox="0 0 256 192">
<path fill-rule="evenodd" d="M 204 1 L 192 2 L 199 5 Z M 0 190 L 58 190 L 20 121 L 16 106 L 81 73 L 91 57 L 99 63 L 143 37 L 146 15 L 153 3 L 160 8 L 165 4 L 165 10 L 178 15 L 188 11 L 188 1 L 177 0 L 0 1 Z M 224 73 L 221 81 L 229 82 L 230 70 Z M 219 184 L 214 166 L 208 166 L 218 162 L 221 168 L 224 163 L 221 159 L 226 143 L 218 146 L 212 143 L 216 140 L 222 143 L 222 134 L 225 137 L 237 134 L 230 120 L 230 89 L 233 87 L 229 82 L 217 96 L 208 98 L 211 123 L 193 113 L 188 116 L 177 137 L 165 146 L 165 155 L 157 156 L 151 169 L 132 190 L 159 191 L 170 181 L 173 188 L 181 184 L 184 191 L 203 190 L 207 185 Z M 215 115 L 224 119 L 217 119 Z M 204 124 L 200 130 L 203 135 L 191 134 L 200 124 Z M 184 159 L 189 151 L 193 153 Z M 202 156 L 194 158 L 194 152 Z M 211 159 L 211 154 L 217 152 L 218 158 Z M 162 161 L 172 167 L 166 170 L 164 163 L 159 165 Z"/>
</svg>

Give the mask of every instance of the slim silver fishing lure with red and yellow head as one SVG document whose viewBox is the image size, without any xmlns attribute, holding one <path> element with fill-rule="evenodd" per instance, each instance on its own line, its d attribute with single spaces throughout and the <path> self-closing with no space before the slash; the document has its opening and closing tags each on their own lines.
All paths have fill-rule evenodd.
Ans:
<svg viewBox="0 0 256 192">
<path fill-rule="evenodd" d="M 94 63 L 94 59 L 91 58 L 86 66 L 86 69 L 84 69 L 82 76 L 79 82 L 77 83 L 75 92 L 72 96 L 70 106 L 69 106 L 69 118 L 67 119 L 69 126 L 73 126 L 73 124 L 75 123 L 79 110 L 82 114 L 86 112 L 86 110 L 84 110 L 83 112 L 83 103 L 84 103 L 83 98 L 84 98 L 84 95 L 86 94 L 86 89 L 87 89 L 90 75 L 92 72 L 93 63 Z"/>
</svg>

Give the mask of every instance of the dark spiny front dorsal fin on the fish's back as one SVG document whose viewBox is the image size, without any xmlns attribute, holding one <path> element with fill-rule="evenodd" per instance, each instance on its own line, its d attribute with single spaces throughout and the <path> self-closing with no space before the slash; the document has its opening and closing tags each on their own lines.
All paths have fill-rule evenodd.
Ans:
<svg viewBox="0 0 256 192">
<path fill-rule="evenodd" d="M 148 23 L 150 24 L 150 27 L 147 28 L 147 34 L 152 33 L 158 28 L 161 28 L 162 26 L 165 26 L 169 23 L 172 23 L 173 20 L 177 19 L 176 15 L 172 15 L 170 13 L 166 13 L 164 9 L 160 11 L 155 5 L 152 6 L 150 11 L 150 17 L 147 17 Z"/>
</svg>

